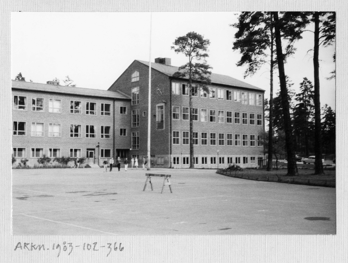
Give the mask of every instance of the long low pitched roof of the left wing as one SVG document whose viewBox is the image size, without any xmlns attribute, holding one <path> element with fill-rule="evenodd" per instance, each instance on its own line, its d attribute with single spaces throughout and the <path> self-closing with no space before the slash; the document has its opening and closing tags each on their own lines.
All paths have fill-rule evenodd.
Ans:
<svg viewBox="0 0 348 263">
<path fill-rule="evenodd" d="M 44 92 L 50 92 L 50 93 L 81 95 L 81 96 L 130 99 L 128 95 L 124 93 L 120 93 L 118 91 L 66 87 L 66 86 L 59 86 L 59 85 L 56 86 L 52 84 L 43 84 L 43 83 L 35 83 L 35 82 L 17 81 L 17 80 L 12 80 L 12 88 L 32 90 L 32 91 L 44 91 Z"/>
</svg>

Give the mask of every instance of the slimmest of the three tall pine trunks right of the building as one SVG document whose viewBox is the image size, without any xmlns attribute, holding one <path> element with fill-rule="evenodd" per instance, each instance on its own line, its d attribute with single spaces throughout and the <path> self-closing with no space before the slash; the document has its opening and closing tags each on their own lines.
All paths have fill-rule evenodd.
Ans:
<svg viewBox="0 0 348 263">
<path fill-rule="evenodd" d="M 268 163 L 267 171 L 272 170 L 272 155 L 273 155 L 273 26 L 272 26 L 272 14 L 271 14 L 271 67 L 270 67 L 270 96 L 269 96 L 269 129 L 268 129 Z"/>
</svg>

